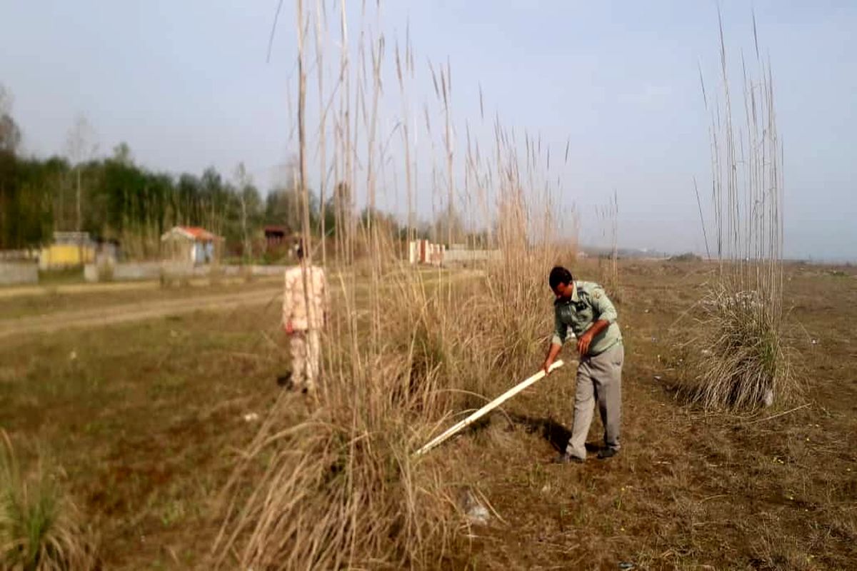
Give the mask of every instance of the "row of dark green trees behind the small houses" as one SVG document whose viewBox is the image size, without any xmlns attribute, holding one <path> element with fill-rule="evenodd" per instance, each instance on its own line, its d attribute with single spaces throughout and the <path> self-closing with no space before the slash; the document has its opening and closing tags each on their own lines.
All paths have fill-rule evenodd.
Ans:
<svg viewBox="0 0 857 571">
<path fill-rule="evenodd" d="M 118 241 L 129 257 L 153 258 L 166 230 L 189 225 L 225 237 L 227 252 L 255 257 L 261 253 L 262 226 L 301 228 L 300 193 L 294 183 L 274 187 L 263 198 L 243 164 L 230 176 L 213 167 L 201 175 L 172 175 L 136 164 L 125 143 L 114 147 L 109 157 L 95 158 L 98 145 L 84 118 L 69 130 L 65 157 L 27 157 L 20 146 L 21 129 L 0 86 L 0 250 L 39 247 L 51 241 L 54 231 L 76 230 Z M 401 239 L 408 235 L 385 212 L 363 210 L 357 215 L 344 184 L 336 185 L 332 194 L 322 208 L 319 197 L 309 193 L 315 235 L 323 229 L 333 238 L 339 228 L 353 234 L 370 217 Z M 454 216 L 423 224 L 411 235 L 442 240 L 449 226 L 459 239 L 468 239 Z M 477 237 L 485 240 L 484 235 Z"/>
</svg>

